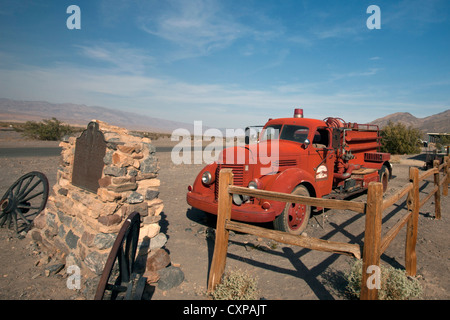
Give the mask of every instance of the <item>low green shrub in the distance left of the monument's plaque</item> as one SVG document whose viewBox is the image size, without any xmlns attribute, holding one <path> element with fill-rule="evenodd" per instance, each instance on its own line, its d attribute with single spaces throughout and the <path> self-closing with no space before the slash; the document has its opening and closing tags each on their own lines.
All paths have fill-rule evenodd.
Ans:
<svg viewBox="0 0 450 320">
<path fill-rule="evenodd" d="M 24 136 L 38 140 L 55 141 L 72 132 L 73 129 L 69 125 L 62 124 L 56 118 L 45 119 L 41 122 L 27 121 L 22 128 Z"/>
</svg>

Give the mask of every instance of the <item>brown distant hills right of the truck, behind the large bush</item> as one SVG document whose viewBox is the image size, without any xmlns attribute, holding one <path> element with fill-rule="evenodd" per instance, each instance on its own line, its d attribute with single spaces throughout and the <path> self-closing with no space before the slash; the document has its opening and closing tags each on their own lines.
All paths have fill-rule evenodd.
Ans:
<svg viewBox="0 0 450 320">
<path fill-rule="evenodd" d="M 425 118 L 416 118 L 409 112 L 397 112 L 376 119 L 371 123 L 383 128 L 389 121 L 403 123 L 424 133 L 450 133 L 450 109 Z"/>
</svg>

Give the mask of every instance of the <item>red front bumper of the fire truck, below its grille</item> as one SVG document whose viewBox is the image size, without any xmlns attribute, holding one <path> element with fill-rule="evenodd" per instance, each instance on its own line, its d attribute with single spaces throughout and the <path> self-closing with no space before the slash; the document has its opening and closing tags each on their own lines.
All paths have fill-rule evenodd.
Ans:
<svg viewBox="0 0 450 320">
<path fill-rule="evenodd" d="M 214 195 L 202 195 L 189 191 L 186 196 L 187 203 L 192 207 L 217 215 L 218 203 Z M 259 204 L 243 203 L 240 206 L 232 204 L 231 219 L 242 222 L 264 223 L 275 220 L 277 212 L 272 208 L 263 209 Z"/>
</svg>

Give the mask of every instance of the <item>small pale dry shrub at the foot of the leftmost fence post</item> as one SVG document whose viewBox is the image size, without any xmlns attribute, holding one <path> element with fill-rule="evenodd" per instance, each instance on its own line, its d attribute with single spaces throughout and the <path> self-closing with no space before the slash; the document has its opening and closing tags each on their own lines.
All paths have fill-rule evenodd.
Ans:
<svg viewBox="0 0 450 320">
<path fill-rule="evenodd" d="M 241 270 L 234 270 L 223 276 L 212 297 L 214 300 L 258 300 L 257 287 L 255 278 Z"/>
</svg>

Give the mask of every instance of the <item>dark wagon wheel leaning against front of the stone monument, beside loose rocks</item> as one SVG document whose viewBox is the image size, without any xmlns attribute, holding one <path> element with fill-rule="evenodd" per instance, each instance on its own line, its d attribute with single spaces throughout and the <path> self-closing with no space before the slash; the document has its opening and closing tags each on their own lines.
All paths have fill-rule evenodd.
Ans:
<svg viewBox="0 0 450 320">
<path fill-rule="evenodd" d="M 146 278 L 135 272 L 139 239 L 140 214 L 133 212 L 122 225 L 114 242 L 100 282 L 95 300 L 140 300 Z"/>
</svg>

